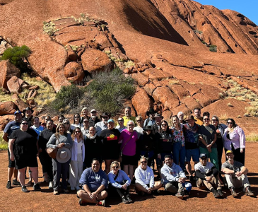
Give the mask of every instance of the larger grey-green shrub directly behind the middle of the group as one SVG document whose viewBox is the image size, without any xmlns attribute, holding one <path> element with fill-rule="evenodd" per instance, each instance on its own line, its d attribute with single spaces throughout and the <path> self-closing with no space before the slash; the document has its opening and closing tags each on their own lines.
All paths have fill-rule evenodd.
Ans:
<svg viewBox="0 0 258 212">
<path fill-rule="evenodd" d="M 135 91 L 134 79 L 125 77 L 120 69 L 97 73 L 86 88 L 91 102 L 88 106 L 115 115 L 121 110 L 123 100 L 134 95 Z"/>
</svg>

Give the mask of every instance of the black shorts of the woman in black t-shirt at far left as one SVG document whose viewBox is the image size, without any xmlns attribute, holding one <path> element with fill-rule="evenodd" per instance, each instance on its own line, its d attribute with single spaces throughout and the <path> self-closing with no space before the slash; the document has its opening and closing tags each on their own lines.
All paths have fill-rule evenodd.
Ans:
<svg viewBox="0 0 258 212">
<path fill-rule="evenodd" d="M 16 161 L 16 170 L 23 169 L 24 167 L 38 167 L 37 155 L 14 155 Z"/>
</svg>

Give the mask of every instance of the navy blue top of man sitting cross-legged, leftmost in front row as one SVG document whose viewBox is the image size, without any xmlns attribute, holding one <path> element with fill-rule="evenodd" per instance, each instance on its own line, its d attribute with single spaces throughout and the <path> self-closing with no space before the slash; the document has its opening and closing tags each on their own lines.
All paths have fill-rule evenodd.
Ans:
<svg viewBox="0 0 258 212">
<path fill-rule="evenodd" d="M 81 186 L 87 184 L 90 192 L 95 192 L 102 184 L 107 188 L 107 174 L 103 170 L 94 172 L 92 167 L 83 171 L 80 179 Z"/>
</svg>

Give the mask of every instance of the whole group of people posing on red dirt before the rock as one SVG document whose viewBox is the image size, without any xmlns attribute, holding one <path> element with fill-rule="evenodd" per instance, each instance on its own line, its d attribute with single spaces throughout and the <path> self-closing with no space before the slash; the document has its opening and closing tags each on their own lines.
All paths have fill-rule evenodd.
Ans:
<svg viewBox="0 0 258 212">
<path fill-rule="evenodd" d="M 183 199 L 192 188 L 184 172 L 190 182 L 197 181 L 197 187 L 209 189 L 216 198 L 223 196 L 221 173 L 233 196 L 237 195 L 235 188 L 241 186 L 245 194 L 254 196 L 245 167 L 245 133 L 233 119 L 228 119 L 227 125 L 220 124 L 217 116 L 210 118 L 209 112 L 201 117 L 197 108 L 186 119 L 182 112 L 173 115 L 169 126 L 152 108 L 143 122 L 141 116 L 133 117 L 131 108 L 126 107 L 124 117 L 119 117 L 115 126 L 110 114 L 105 112 L 99 119 L 96 110 L 88 114 L 84 107 L 81 114 L 74 114 L 73 124 L 60 115 L 56 125 L 50 116 L 40 123 L 39 117 L 32 114 L 30 107 L 23 110 L 24 117 L 16 111 L 14 121 L 4 129 L 3 139 L 8 142 L 8 189 L 14 175 L 13 185 L 21 185 L 23 192 L 29 192 L 25 186 L 29 167 L 29 184 L 33 180 L 33 189 L 41 190 L 38 156 L 53 194 L 59 194 L 59 186 L 68 193 L 69 182 L 71 190 L 78 191 L 80 205 L 103 206 L 107 192 L 119 194 L 123 203 L 131 203 L 130 184 L 140 195 L 159 194 L 158 189 L 164 185 L 165 191 Z M 50 158 L 47 148 L 57 148 L 57 156 Z M 223 149 L 227 161 L 222 164 Z M 102 162 L 105 171 L 101 169 Z M 158 182 L 154 181 L 155 163 Z"/>
</svg>

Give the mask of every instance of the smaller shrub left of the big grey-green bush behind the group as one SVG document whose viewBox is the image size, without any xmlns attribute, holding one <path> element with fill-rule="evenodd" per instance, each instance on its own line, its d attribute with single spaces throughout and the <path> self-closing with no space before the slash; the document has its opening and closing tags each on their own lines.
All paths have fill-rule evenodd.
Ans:
<svg viewBox="0 0 258 212">
<path fill-rule="evenodd" d="M 49 107 L 54 112 L 69 113 L 70 110 L 78 106 L 78 102 L 83 98 L 84 92 L 85 88 L 78 88 L 74 84 L 62 86 Z"/>
</svg>

